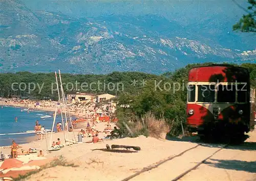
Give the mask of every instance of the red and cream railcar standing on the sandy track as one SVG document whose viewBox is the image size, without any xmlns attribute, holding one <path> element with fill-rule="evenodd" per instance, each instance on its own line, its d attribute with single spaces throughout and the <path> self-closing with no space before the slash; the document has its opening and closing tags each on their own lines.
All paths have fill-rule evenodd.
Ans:
<svg viewBox="0 0 256 181">
<path fill-rule="evenodd" d="M 246 68 L 232 65 L 191 68 L 187 88 L 186 114 L 191 132 L 244 134 L 253 127 L 255 96 L 253 100 Z"/>
</svg>

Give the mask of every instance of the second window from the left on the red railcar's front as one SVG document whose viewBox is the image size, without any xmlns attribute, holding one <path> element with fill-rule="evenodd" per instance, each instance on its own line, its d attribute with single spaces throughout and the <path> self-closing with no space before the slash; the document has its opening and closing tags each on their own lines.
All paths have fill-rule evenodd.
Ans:
<svg viewBox="0 0 256 181">
<path fill-rule="evenodd" d="M 215 85 L 198 86 L 198 102 L 214 102 L 215 101 Z"/>
</svg>

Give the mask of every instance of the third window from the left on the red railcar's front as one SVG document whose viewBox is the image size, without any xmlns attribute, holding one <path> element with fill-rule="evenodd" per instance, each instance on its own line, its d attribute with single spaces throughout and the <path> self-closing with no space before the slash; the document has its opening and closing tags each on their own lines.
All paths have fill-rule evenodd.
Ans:
<svg viewBox="0 0 256 181">
<path fill-rule="evenodd" d="M 234 85 L 219 85 L 217 93 L 218 102 L 235 102 L 236 101 L 236 86 Z"/>
</svg>

